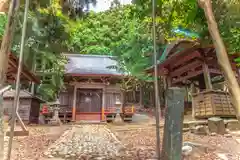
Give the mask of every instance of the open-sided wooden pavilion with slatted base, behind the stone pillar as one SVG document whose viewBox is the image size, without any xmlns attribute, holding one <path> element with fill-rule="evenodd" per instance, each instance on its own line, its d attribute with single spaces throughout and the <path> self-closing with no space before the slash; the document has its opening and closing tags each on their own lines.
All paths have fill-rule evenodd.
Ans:
<svg viewBox="0 0 240 160">
<path fill-rule="evenodd" d="M 238 71 L 233 58 L 232 69 Z M 152 74 L 154 67 L 146 70 Z M 165 48 L 158 64 L 158 75 L 166 78 L 168 87 L 194 86 L 192 90 L 192 115 L 194 118 L 211 116 L 233 117 L 235 112 L 226 91 L 214 88 L 224 81 L 213 46 L 202 47 L 196 41 L 179 40 Z"/>
</svg>

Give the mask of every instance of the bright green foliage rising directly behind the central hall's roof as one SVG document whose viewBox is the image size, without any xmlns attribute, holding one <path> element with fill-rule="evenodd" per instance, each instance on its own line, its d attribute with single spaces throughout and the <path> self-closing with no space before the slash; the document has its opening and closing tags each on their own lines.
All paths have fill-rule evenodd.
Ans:
<svg viewBox="0 0 240 160">
<path fill-rule="evenodd" d="M 139 83 L 136 78 L 146 79 L 144 70 L 152 64 L 152 57 L 145 55 L 152 52 L 151 26 L 139 12 L 135 5 L 91 12 L 69 27 L 69 49 L 82 54 L 116 56 L 117 68 L 135 77 L 131 84 Z"/>
</svg>

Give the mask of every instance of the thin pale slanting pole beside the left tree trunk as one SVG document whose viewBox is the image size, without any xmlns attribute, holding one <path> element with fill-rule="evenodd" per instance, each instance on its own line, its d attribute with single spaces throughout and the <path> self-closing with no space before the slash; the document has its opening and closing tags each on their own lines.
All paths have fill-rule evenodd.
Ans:
<svg viewBox="0 0 240 160">
<path fill-rule="evenodd" d="M 15 120 L 16 120 L 18 107 L 19 107 L 20 76 L 21 76 L 21 72 L 22 72 L 23 50 L 24 50 L 24 45 L 25 45 L 28 8 L 29 8 L 29 0 L 26 0 L 25 1 L 24 19 L 23 19 L 23 28 L 22 28 L 22 37 L 21 37 L 19 63 L 18 63 L 18 71 L 17 71 L 17 80 L 16 80 L 16 92 L 15 92 L 14 104 L 13 104 L 13 110 L 12 110 L 12 121 L 11 121 L 10 138 L 9 138 L 9 144 L 8 144 L 7 160 L 11 159 L 12 142 L 13 142 L 13 136 L 14 136 L 14 126 L 15 126 Z"/>
</svg>

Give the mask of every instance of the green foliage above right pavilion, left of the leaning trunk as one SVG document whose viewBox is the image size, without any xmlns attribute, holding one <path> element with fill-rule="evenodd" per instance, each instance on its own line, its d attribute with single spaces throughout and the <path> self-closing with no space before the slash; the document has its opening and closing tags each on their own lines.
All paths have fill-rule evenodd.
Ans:
<svg viewBox="0 0 240 160">
<path fill-rule="evenodd" d="M 134 3 L 141 10 L 144 19 L 152 22 L 152 1 L 134 0 Z M 197 39 L 198 37 L 195 35 L 175 33 L 173 30 L 181 29 L 187 32 L 197 32 L 199 35 L 205 34 L 206 23 L 203 18 L 204 13 L 198 7 L 196 0 L 156 1 L 157 39 L 165 44 L 180 38 Z"/>
</svg>

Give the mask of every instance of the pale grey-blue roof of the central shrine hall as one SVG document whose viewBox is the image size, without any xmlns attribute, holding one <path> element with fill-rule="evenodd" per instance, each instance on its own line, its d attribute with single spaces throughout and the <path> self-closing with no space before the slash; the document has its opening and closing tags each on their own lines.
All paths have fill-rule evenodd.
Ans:
<svg viewBox="0 0 240 160">
<path fill-rule="evenodd" d="M 124 73 L 116 69 L 109 68 L 117 66 L 113 56 L 105 55 L 83 55 L 83 54 L 64 54 L 69 59 L 66 65 L 66 74 L 80 75 L 115 75 L 121 76 Z"/>
</svg>

